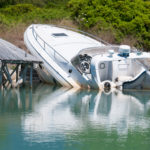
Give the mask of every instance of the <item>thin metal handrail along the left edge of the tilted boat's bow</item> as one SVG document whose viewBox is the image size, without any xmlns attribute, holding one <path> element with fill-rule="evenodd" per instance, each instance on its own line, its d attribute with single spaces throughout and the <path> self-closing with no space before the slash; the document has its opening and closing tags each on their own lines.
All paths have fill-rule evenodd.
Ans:
<svg viewBox="0 0 150 150">
<path fill-rule="evenodd" d="M 39 45 L 43 48 L 43 50 L 44 51 L 46 51 L 46 49 L 45 49 L 45 46 L 47 45 L 50 49 L 52 49 L 53 50 L 53 52 L 54 52 L 54 58 L 55 58 L 55 53 L 58 55 L 58 56 L 60 56 L 67 64 L 69 63 L 69 61 L 68 60 L 66 60 L 62 55 L 60 55 L 52 46 L 50 46 L 48 43 L 46 43 L 39 35 L 38 35 L 38 33 L 35 31 L 35 29 L 34 29 L 34 27 L 32 26 L 32 32 L 33 32 L 33 36 L 35 37 L 35 39 L 36 39 L 36 41 L 39 43 L 39 41 L 38 41 L 38 39 L 37 38 L 39 38 L 39 39 L 41 39 L 42 40 L 42 42 L 43 42 L 43 45 L 44 46 L 42 46 L 40 43 L 39 43 Z M 34 34 L 35 33 L 35 34 Z"/>
</svg>

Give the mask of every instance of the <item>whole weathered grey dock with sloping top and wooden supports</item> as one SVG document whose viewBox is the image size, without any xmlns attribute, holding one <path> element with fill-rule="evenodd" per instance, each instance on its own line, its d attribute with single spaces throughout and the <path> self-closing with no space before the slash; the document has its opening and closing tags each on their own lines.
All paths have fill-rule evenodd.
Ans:
<svg viewBox="0 0 150 150">
<path fill-rule="evenodd" d="M 15 45 L 0 39 L 0 87 L 14 86 L 12 77 L 15 74 L 15 86 L 19 82 L 26 82 L 27 70 L 30 69 L 30 86 L 32 87 L 33 66 L 42 61 L 16 47 Z M 10 71 L 11 67 L 11 71 Z"/>
</svg>

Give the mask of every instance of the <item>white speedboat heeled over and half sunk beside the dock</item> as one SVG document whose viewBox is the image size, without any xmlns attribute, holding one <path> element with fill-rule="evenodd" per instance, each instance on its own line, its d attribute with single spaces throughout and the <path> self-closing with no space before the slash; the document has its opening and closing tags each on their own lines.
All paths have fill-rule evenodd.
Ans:
<svg viewBox="0 0 150 150">
<path fill-rule="evenodd" d="M 90 34 L 54 25 L 31 25 L 24 34 L 30 52 L 43 60 L 41 78 L 68 87 L 150 89 L 143 64 L 150 54 L 113 46 Z"/>
</svg>

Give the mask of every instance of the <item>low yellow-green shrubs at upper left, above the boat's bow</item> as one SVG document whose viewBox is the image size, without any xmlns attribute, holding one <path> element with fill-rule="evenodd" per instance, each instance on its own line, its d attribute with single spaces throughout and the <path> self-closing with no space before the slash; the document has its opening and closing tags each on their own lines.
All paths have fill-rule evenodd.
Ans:
<svg viewBox="0 0 150 150">
<path fill-rule="evenodd" d="M 67 16 L 69 13 L 63 8 L 41 8 L 32 4 L 16 4 L 0 9 L 0 20 L 3 20 L 0 23 L 7 21 L 9 24 L 43 23 L 52 19 L 67 18 Z"/>
</svg>

